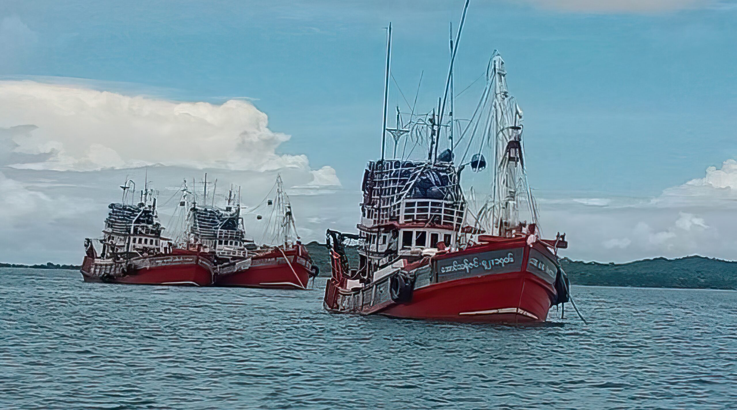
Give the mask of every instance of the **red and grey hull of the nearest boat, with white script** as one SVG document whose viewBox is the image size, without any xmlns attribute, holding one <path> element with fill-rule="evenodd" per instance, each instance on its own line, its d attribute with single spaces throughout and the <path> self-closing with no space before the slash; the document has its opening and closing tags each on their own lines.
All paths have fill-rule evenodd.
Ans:
<svg viewBox="0 0 737 410">
<path fill-rule="evenodd" d="M 486 257 L 490 254 L 508 254 L 509 260 L 489 260 Z M 411 300 L 395 302 L 390 297 L 389 284 L 390 277 L 396 275 L 360 289 L 346 290 L 347 282 L 338 279 L 342 274 L 334 254 L 333 277 L 326 285 L 324 305 L 336 313 L 380 314 L 403 319 L 545 322 L 557 295 L 553 265 L 538 268 L 544 265 L 540 260 L 546 259 L 552 263 L 554 256 L 545 246 L 536 243 L 531 249 L 524 238 L 438 254 L 408 267 L 416 275 Z M 417 275 L 425 276 L 421 279 Z"/>
</svg>

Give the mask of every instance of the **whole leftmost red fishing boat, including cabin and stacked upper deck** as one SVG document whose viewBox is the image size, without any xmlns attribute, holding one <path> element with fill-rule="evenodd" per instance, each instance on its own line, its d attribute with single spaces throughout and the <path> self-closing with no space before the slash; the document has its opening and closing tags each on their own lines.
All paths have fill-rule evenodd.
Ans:
<svg viewBox="0 0 737 410">
<path fill-rule="evenodd" d="M 133 180 L 126 181 L 121 186 L 122 202 L 108 206 L 111 211 L 102 240 L 85 239 L 84 281 L 212 285 L 214 265 L 209 256 L 201 249 L 175 249 L 172 240 L 161 235 L 164 227 L 158 220 L 157 192 L 146 187 L 133 204 L 135 187 Z"/>
</svg>

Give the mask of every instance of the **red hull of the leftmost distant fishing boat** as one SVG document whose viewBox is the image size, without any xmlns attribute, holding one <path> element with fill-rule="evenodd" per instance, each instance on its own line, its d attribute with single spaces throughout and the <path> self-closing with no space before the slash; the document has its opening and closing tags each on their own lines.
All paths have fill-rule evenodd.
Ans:
<svg viewBox="0 0 737 410">
<path fill-rule="evenodd" d="M 153 257 L 147 262 L 151 265 L 132 269 L 126 274 L 113 275 L 101 278 L 91 274 L 85 267 L 91 265 L 85 257 L 82 277 L 85 282 L 125 283 L 128 285 L 182 285 L 182 286 L 210 286 L 214 282 L 212 263 L 205 257 L 186 255 L 187 263 L 158 263 L 168 257 Z"/>
</svg>

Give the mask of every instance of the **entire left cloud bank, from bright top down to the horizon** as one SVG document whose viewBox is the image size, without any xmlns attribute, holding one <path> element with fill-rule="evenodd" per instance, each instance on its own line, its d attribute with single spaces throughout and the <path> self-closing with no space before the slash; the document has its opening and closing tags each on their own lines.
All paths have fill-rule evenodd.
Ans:
<svg viewBox="0 0 737 410">
<path fill-rule="evenodd" d="M 360 194 L 341 190 L 332 167 L 312 170 L 304 155 L 277 153 L 289 138 L 243 100 L 175 102 L 0 81 L 0 261 L 79 263 L 83 239 L 99 235 L 108 204 L 119 201 L 118 185 L 129 176 L 142 183 L 146 173 L 161 191 L 164 225 L 177 194 L 167 188 L 184 177 L 217 178 L 216 205 L 226 187 L 242 187 L 242 203 L 252 208 L 280 173 L 296 194 L 304 240 L 322 240 L 324 226 L 352 229 Z M 258 239 L 266 220 L 251 216 L 248 234 Z"/>
</svg>

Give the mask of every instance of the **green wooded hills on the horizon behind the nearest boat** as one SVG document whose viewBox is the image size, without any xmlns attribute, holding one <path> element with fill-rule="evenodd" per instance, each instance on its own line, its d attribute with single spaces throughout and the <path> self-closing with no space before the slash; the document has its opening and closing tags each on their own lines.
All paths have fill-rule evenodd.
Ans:
<svg viewBox="0 0 737 410">
<path fill-rule="evenodd" d="M 312 242 L 307 244 L 307 249 L 320 266 L 320 276 L 329 276 L 325 245 Z M 357 260 L 355 248 L 347 248 L 346 252 L 349 258 Z M 581 262 L 563 258 L 561 266 L 574 285 L 737 290 L 737 262 L 708 257 L 659 257 L 630 263 Z"/>
</svg>

